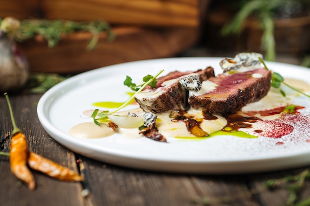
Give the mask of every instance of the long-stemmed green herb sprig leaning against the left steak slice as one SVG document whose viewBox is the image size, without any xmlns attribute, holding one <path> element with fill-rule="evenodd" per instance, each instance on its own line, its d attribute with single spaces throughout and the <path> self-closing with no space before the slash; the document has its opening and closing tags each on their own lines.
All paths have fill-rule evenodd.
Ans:
<svg viewBox="0 0 310 206">
<path fill-rule="evenodd" d="M 100 126 L 100 122 L 108 122 L 108 117 L 107 115 L 111 115 L 119 110 L 121 110 L 122 108 L 124 108 L 125 106 L 127 106 L 132 100 L 133 98 L 135 98 L 135 96 L 141 92 L 147 85 L 152 86 L 152 88 L 156 87 L 156 78 L 163 72 L 163 70 L 160 70 L 155 76 L 152 75 L 147 75 L 143 78 L 143 82 L 142 84 L 136 85 L 135 83 L 132 83 L 132 79 L 128 76 L 126 76 L 126 79 L 124 81 L 124 85 L 128 86 L 129 88 L 131 88 L 132 90 L 136 91 L 136 93 L 134 93 L 134 95 L 132 95 L 124 104 L 122 104 L 120 107 L 118 107 L 117 109 L 115 109 L 112 112 L 109 112 L 108 110 L 105 110 L 103 112 L 99 112 L 99 109 L 94 110 L 93 114 L 92 114 L 92 118 L 94 120 L 94 123 Z M 98 118 L 97 118 L 98 117 Z"/>
</svg>

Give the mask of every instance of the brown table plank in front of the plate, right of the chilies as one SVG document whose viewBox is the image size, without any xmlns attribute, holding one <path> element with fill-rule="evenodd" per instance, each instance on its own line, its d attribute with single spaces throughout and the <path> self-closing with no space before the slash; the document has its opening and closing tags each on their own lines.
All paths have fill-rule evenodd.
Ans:
<svg viewBox="0 0 310 206">
<path fill-rule="evenodd" d="M 245 179 L 224 176 L 203 176 L 156 173 L 104 164 L 81 157 L 85 167 L 87 188 L 94 205 L 117 206 L 188 206 L 197 197 L 234 198 L 246 192 Z M 243 197 L 216 206 L 258 206 L 250 197 Z"/>
</svg>

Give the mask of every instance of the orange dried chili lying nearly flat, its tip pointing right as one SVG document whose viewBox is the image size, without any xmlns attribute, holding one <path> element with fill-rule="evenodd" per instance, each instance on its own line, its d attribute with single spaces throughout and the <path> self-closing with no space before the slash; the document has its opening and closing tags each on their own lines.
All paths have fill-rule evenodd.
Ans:
<svg viewBox="0 0 310 206">
<path fill-rule="evenodd" d="M 65 181 L 82 181 L 83 177 L 75 171 L 46 159 L 36 153 L 29 152 L 28 165 L 53 178 Z"/>
</svg>

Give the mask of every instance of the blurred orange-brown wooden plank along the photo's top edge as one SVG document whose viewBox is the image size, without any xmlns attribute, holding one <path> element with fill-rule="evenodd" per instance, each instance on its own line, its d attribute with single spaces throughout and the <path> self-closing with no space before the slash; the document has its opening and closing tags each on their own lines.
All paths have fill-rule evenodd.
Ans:
<svg viewBox="0 0 310 206">
<path fill-rule="evenodd" d="M 48 19 L 98 20 L 143 26 L 199 25 L 198 0 L 42 0 Z"/>
</svg>

